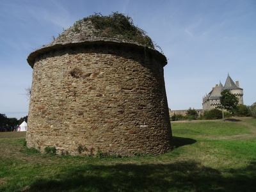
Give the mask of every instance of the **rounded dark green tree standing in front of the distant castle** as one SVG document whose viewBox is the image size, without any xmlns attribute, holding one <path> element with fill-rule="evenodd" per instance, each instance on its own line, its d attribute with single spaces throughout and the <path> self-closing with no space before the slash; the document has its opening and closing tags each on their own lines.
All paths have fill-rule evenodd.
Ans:
<svg viewBox="0 0 256 192">
<path fill-rule="evenodd" d="M 237 108 L 238 99 L 230 90 L 223 90 L 220 97 L 221 109 L 226 109 L 230 113 L 234 113 Z M 224 116 L 223 116 L 224 118 Z"/>
</svg>

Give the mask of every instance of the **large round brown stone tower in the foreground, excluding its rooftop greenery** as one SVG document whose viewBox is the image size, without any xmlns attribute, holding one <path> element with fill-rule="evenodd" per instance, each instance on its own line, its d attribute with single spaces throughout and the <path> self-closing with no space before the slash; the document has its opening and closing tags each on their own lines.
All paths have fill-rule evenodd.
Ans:
<svg viewBox="0 0 256 192">
<path fill-rule="evenodd" d="M 27 146 L 70 155 L 170 151 L 166 57 L 122 34 L 110 36 L 88 18 L 28 56 Z"/>
</svg>

